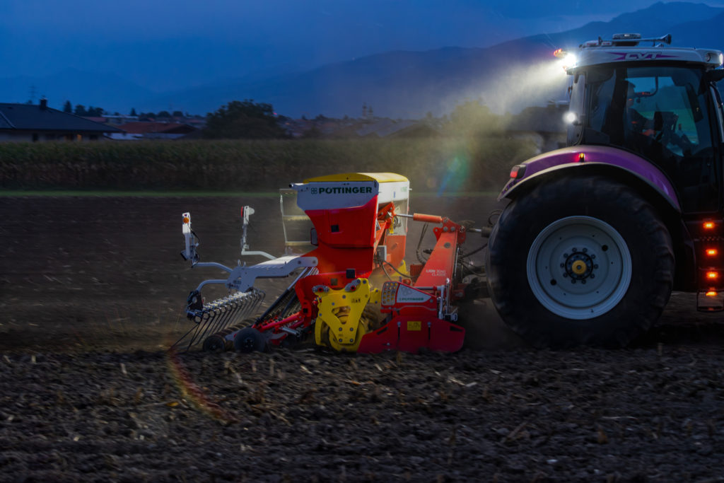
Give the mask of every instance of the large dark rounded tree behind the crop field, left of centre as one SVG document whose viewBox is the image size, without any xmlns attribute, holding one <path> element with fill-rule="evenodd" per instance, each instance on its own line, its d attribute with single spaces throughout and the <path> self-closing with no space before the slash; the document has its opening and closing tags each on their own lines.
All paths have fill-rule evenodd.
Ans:
<svg viewBox="0 0 724 483">
<path fill-rule="evenodd" d="M 287 138 L 271 104 L 255 103 L 253 99 L 231 101 L 207 114 L 204 135 L 214 139 Z"/>
</svg>

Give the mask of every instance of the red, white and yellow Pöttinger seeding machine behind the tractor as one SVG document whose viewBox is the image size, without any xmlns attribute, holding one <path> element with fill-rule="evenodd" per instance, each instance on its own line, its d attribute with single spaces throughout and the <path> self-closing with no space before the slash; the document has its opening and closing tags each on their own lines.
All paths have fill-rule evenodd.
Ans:
<svg viewBox="0 0 724 483">
<path fill-rule="evenodd" d="M 235 267 L 199 261 L 190 213 L 183 214 L 184 259 L 195 267 L 222 269 L 224 280 L 204 280 L 188 297 L 186 314 L 193 327 L 174 346 L 185 350 L 251 352 L 295 345 L 313 334 L 316 345 L 340 352 L 385 350 L 454 352 L 463 346 L 465 329 L 457 304 L 476 295 L 480 269 L 466 264 L 461 245 L 468 232 L 489 235 L 446 217 L 408 214 L 410 183 L 393 173 L 348 173 L 316 177 L 282 190 L 282 219 L 310 225 L 303 254 L 274 257 L 248 251 L 251 207 L 243 208 L 243 255 L 269 260 Z M 295 196 L 299 214 L 284 213 L 284 196 Z M 418 263 L 405 263 L 408 222 L 434 224 L 436 242 Z M 423 235 L 428 225 L 423 227 Z M 285 227 L 287 238 L 287 227 Z M 287 247 L 294 245 L 287 240 Z M 425 257 L 425 255 L 427 255 Z M 466 276 L 467 274 L 467 276 Z M 263 314 L 257 279 L 290 277 Z M 205 302 L 201 290 L 225 285 L 229 295 Z"/>
</svg>

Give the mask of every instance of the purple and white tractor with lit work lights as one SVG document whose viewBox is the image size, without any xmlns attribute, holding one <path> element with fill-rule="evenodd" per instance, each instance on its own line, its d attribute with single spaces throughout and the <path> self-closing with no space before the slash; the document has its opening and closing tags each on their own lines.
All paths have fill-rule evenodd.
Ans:
<svg viewBox="0 0 724 483">
<path fill-rule="evenodd" d="M 500 193 L 489 295 L 533 345 L 626 345 L 672 290 L 724 308 L 723 55 L 670 43 L 625 33 L 569 54 L 566 147 Z"/>
</svg>

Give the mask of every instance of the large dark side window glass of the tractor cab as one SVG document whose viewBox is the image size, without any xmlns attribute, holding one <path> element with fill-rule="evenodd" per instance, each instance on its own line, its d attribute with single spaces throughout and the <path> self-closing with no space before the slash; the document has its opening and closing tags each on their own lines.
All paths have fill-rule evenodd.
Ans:
<svg viewBox="0 0 724 483">
<path fill-rule="evenodd" d="M 589 140 L 639 154 L 668 175 L 684 211 L 718 208 L 710 92 L 686 67 L 608 67 L 589 75 Z"/>
</svg>

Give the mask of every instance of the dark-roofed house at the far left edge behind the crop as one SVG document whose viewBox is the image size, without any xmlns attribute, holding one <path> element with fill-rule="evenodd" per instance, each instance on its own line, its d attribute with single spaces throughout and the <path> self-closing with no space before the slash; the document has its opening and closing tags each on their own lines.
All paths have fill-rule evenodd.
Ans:
<svg viewBox="0 0 724 483">
<path fill-rule="evenodd" d="M 0 103 L 0 141 L 102 140 L 122 132 L 75 114 L 40 104 Z"/>
</svg>

